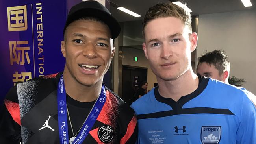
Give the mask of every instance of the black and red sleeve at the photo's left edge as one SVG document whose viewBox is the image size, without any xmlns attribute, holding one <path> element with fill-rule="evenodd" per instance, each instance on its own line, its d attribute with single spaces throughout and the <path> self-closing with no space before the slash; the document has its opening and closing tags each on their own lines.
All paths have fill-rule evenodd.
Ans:
<svg viewBox="0 0 256 144">
<path fill-rule="evenodd" d="M 0 144 L 20 144 L 20 142 L 20 111 L 17 86 L 14 86 L 7 93 L 5 100 L 0 103 Z"/>
</svg>

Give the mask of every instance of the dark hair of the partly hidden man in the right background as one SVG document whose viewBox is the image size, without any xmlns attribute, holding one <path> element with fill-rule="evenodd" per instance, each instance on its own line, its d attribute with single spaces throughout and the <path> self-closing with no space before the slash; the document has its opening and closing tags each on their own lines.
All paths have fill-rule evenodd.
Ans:
<svg viewBox="0 0 256 144">
<path fill-rule="evenodd" d="M 219 71 L 219 75 L 221 75 L 226 70 L 228 72 L 230 70 L 230 62 L 228 60 L 228 56 L 225 54 L 225 51 L 214 50 L 212 52 L 207 52 L 202 55 L 202 57 L 198 57 L 198 59 L 198 65 L 203 62 L 206 62 L 209 65 L 214 65 L 215 68 L 217 68 Z"/>
</svg>

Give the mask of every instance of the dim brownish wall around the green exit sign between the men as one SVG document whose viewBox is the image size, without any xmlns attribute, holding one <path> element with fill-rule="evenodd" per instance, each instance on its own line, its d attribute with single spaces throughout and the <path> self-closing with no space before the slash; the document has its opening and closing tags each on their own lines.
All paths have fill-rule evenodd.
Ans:
<svg viewBox="0 0 256 144">
<path fill-rule="evenodd" d="M 135 48 L 122 48 L 122 52 L 123 52 L 123 59 L 122 59 L 123 65 L 148 68 L 148 76 L 147 76 L 148 90 L 151 90 L 154 87 L 154 83 L 157 83 L 156 75 L 152 72 L 150 65 L 148 63 L 148 59 L 145 57 L 143 50 L 137 50 Z M 137 62 L 133 61 L 134 56 L 138 57 Z"/>
</svg>

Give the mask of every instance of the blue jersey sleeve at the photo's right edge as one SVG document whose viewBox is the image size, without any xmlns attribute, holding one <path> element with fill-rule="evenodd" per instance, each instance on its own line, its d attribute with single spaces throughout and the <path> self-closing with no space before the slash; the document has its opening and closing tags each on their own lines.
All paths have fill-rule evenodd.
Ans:
<svg viewBox="0 0 256 144">
<path fill-rule="evenodd" d="M 236 144 L 256 144 L 256 108 L 248 92 L 244 93 Z"/>
</svg>

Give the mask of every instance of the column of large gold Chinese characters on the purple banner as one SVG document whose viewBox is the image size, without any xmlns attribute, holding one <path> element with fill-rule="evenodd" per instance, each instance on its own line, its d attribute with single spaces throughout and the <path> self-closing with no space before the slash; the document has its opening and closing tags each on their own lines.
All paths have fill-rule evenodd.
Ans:
<svg viewBox="0 0 256 144">
<path fill-rule="evenodd" d="M 27 6 L 7 7 L 8 31 L 26 31 L 28 29 Z M 10 64 L 24 65 L 30 63 L 28 41 L 9 41 Z M 13 85 L 31 79 L 31 72 L 17 72 L 13 74 Z"/>
</svg>

